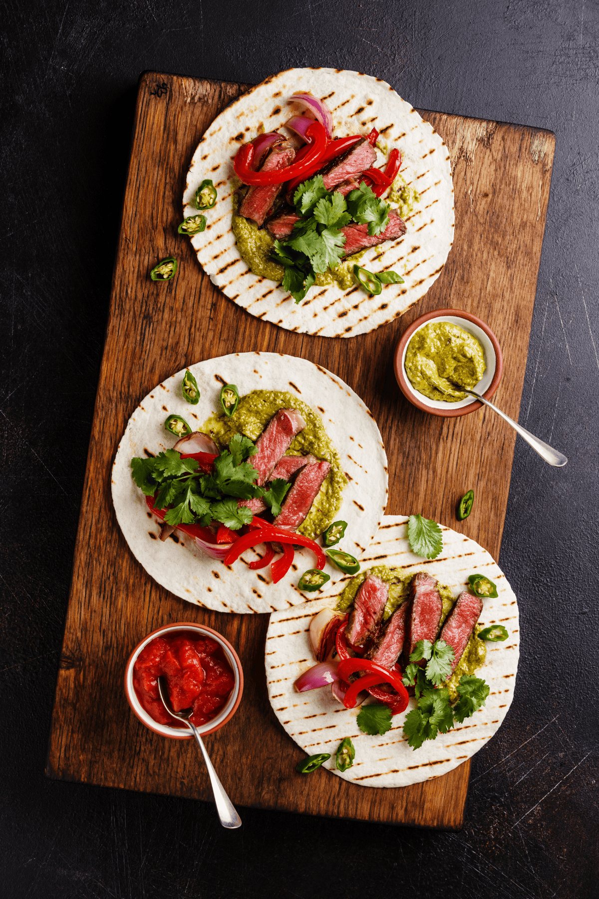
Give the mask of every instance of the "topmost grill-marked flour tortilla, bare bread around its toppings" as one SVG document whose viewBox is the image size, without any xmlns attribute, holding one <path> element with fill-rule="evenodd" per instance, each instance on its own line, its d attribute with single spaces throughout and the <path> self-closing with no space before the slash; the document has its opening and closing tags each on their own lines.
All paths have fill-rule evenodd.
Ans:
<svg viewBox="0 0 599 899">
<path fill-rule="evenodd" d="M 336 138 L 379 130 L 379 142 L 401 151 L 400 174 L 418 191 L 418 204 L 405 218 L 406 234 L 371 247 L 362 256 L 360 264 L 366 269 L 392 269 L 405 281 L 383 285 L 379 296 L 370 297 L 357 285 L 343 290 L 333 283 L 313 287 L 295 305 L 276 281 L 252 274 L 239 253 L 231 227 L 233 158 L 259 130 L 281 128 L 296 110 L 287 104 L 296 92 L 313 93 L 327 103 Z M 385 160 L 379 150 L 374 165 L 381 168 Z M 218 199 L 214 209 L 206 210 L 206 230 L 191 237 L 199 262 L 227 297 L 252 316 L 288 331 L 353 337 L 385 325 L 425 295 L 454 240 L 454 186 L 443 140 L 392 87 L 357 72 L 292 68 L 244 93 L 216 118 L 198 145 L 183 194 L 185 217 L 198 214 L 191 203 L 205 178 L 215 183 Z"/>
</svg>

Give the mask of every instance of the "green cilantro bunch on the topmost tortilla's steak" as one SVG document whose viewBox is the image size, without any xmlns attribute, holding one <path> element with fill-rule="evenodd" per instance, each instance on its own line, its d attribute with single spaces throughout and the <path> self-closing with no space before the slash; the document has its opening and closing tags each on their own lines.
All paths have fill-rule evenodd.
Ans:
<svg viewBox="0 0 599 899">
<path fill-rule="evenodd" d="M 322 174 L 298 186 L 294 203 L 301 218 L 285 241 L 275 241 L 273 258 L 285 268 L 283 289 L 301 303 L 316 275 L 336 269 L 343 259 L 342 228 L 354 221 L 367 224 L 369 235 L 380 234 L 387 227 L 391 207 L 365 182 L 347 199 L 339 191 L 327 191 Z"/>
</svg>

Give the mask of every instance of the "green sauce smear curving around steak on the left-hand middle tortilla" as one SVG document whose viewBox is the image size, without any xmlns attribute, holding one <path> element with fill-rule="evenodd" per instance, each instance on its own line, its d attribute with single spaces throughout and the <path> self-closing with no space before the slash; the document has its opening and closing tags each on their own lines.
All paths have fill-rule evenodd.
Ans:
<svg viewBox="0 0 599 899">
<path fill-rule="evenodd" d="M 279 409 L 297 409 L 305 422 L 286 451 L 286 456 L 305 456 L 313 453 L 317 458 L 330 462 L 330 472 L 325 477 L 310 512 L 297 529 L 304 537 L 315 539 L 330 523 L 341 507 L 341 491 L 348 484 L 341 468 L 339 452 L 324 430 L 319 414 L 311 406 L 282 390 L 252 390 L 242 396 L 237 409 L 227 418 L 225 413 L 213 413 L 202 425 L 201 431 L 209 433 L 220 449 L 225 449 L 235 434 L 244 434 L 256 441 Z"/>
</svg>

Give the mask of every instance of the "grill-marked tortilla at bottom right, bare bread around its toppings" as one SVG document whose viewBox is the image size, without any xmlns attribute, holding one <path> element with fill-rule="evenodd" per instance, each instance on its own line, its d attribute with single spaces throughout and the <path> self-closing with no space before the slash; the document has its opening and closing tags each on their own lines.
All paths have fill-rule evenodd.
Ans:
<svg viewBox="0 0 599 899">
<path fill-rule="evenodd" d="M 505 643 L 486 644 L 485 663 L 475 675 L 487 681 L 490 693 L 486 704 L 472 717 L 412 750 L 403 735 L 403 722 L 410 710 L 416 708 L 413 698 L 405 712 L 392 717 L 390 731 L 383 736 L 369 736 L 357 726 L 359 708 L 344 708 L 332 698 L 329 687 L 295 692 L 294 681 L 316 663 L 308 639 L 310 620 L 325 605 L 334 606 L 337 595 L 328 601 L 315 599 L 293 610 L 274 613 L 270 616 L 266 638 L 270 704 L 287 734 L 308 755 L 330 752 L 330 760 L 323 767 L 363 787 L 407 787 L 446 774 L 478 752 L 496 733 L 514 697 L 520 633 L 518 606 L 506 575 L 486 549 L 449 528 L 442 528 L 441 556 L 430 560 L 414 556 L 406 536 L 407 521 L 403 515 L 384 516 L 374 542 L 362 557 L 363 570 L 388 565 L 404 568 L 407 574 L 427 571 L 439 583 L 450 586 L 456 597 L 467 588 L 468 575 L 475 572 L 485 574 L 497 584 L 498 598 L 483 599 L 478 623 L 483 628 L 501 623 L 509 637 Z M 336 593 L 339 592 L 338 586 Z M 334 753 L 346 736 L 356 747 L 356 759 L 351 768 L 339 771 Z"/>
</svg>

